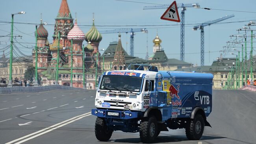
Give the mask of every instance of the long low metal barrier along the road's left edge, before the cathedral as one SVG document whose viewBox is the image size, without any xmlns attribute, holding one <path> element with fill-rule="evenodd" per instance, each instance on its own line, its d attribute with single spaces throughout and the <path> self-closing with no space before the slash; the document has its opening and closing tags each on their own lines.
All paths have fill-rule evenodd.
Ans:
<svg viewBox="0 0 256 144">
<path fill-rule="evenodd" d="M 70 86 L 62 86 L 62 85 L 35 86 L 35 87 L 32 87 L 32 86 L 2 87 L 0 88 L 0 94 L 10 94 L 10 93 L 17 93 L 17 92 L 43 92 L 43 91 L 55 90 L 55 89 L 81 90 L 82 88 L 73 88 Z"/>
</svg>

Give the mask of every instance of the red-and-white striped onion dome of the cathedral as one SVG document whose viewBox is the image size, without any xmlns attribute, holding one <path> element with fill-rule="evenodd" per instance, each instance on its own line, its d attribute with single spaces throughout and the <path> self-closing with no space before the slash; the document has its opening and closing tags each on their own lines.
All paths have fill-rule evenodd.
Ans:
<svg viewBox="0 0 256 144">
<path fill-rule="evenodd" d="M 78 40 L 78 41 L 83 41 L 85 40 L 85 35 L 83 31 L 78 27 L 77 23 L 75 22 L 74 27 L 69 31 L 68 40 Z"/>
</svg>

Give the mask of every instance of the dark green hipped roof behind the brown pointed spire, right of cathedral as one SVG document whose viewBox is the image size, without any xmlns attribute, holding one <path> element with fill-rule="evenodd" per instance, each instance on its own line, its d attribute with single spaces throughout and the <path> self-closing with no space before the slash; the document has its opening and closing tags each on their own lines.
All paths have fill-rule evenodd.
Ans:
<svg viewBox="0 0 256 144">
<path fill-rule="evenodd" d="M 105 61 L 113 61 L 115 56 L 115 49 L 117 48 L 117 43 L 118 43 L 117 41 L 110 42 L 108 48 L 101 55 L 101 58 L 104 55 Z M 127 54 L 127 52 L 124 49 L 123 49 L 123 52 L 124 52 L 124 58 L 126 59 L 126 61 L 128 59 L 135 58 L 134 56 L 130 56 L 129 54 Z"/>
</svg>

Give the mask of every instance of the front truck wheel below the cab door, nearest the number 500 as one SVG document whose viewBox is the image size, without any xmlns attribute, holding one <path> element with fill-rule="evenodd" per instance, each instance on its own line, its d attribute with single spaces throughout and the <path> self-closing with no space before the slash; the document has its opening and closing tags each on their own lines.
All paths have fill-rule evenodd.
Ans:
<svg viewBox="0 0 256 144">
<path fill-rule="evenodd" d="M 158 135 L 158 124 L 156 117 L 150 116 L 141 121 L 139 137 L 143 143 L 152 143 Z"/>
</svg>

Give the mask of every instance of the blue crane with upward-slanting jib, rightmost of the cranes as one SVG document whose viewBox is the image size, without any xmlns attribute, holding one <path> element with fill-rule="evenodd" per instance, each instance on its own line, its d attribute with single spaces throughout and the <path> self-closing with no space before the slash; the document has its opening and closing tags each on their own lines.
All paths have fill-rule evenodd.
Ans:
<svg viewBox="0 0 256 144">
<path fill-rule="evenodd" d="M 229 15 L 229 16 L 221 17 L 217 20 L 210 20 L 208 22 L 204 22 L 200 25 L 196 25 L 196 26 L 193 27 L 194 31 L 196 31 L 198 28 L 201 30 L 201 66 L 204 66 L 204 27 L 207 26 L 207 25 L 211 25 L 213 23 L 221 22 L 223 20 L 226 20 L 226 19 L 232 18 L 232 17 L 234 17 L 234 14 Z"/>
</svg>

